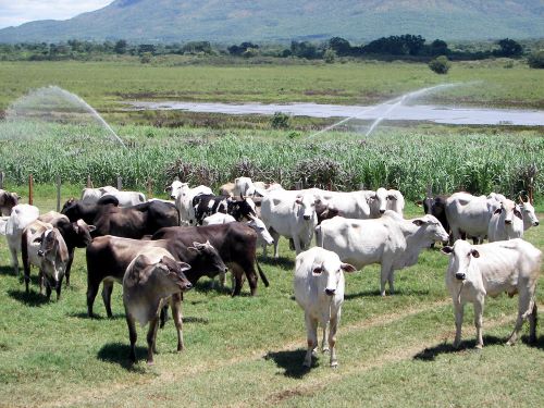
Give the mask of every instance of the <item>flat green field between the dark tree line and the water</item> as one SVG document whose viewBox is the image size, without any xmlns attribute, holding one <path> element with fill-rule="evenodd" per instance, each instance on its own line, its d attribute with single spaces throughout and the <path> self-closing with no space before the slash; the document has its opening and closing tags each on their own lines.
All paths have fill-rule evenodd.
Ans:
<svg viewBox="0 0 544 408">
<path fill-rule="evenodd" d="M 271 65 L 184 65 L 139 62 L 0 62 L 0 110 L 34 88 L 58 85 L 108 120 L 126 120 L 123 100 L 321 102 L 374 104 L 441 83 L 465 83 L 425 100 L 480 107 L 544 107 L 544 73 L 522 61 L 455 62 L 448 75 L 423 63 L 346 62 Z M 115 115 L 111 113 L 115 112 Z"/>
</svg>

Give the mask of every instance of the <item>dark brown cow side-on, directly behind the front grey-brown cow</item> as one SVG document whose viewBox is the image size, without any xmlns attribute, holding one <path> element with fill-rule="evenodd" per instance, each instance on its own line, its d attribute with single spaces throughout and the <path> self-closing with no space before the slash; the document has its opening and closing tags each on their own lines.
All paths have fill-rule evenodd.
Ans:
<svg viewBox="0 0 544 408">
<path fill-rule="evenodd" d="M 98 294 L 100 283 L 103 282 L 102 299 L 106 312 L 111 318 L 111 294 L 114 282 L 122 282 L 128 263 L 144 248 L 165 248 L 172 256 L 182 262 L 190 264 L 187 279 L 196 284 L 200 277 L 215 276 L 226 272 L 218 250 L 209 243 L 191 242 L 188 245 L 175 239 L 138 240 L 116 236 L 100 236 L 92 239 L 87 247 L 87 312 L 92 317 L 92 306 Z"/>
</svg>

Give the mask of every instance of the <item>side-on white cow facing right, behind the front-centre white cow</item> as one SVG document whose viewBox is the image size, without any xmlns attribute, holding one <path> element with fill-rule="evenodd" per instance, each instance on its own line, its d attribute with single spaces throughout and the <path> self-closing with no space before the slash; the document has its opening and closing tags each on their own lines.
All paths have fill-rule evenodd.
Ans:
<svg viewBox="0 0 544 408">
<path fill-rule="evenodd" d="M 448 238 L 433 215 L 405 220 L 392 210 L 386 210 L 380 219 L 372 220 L 335 217 L 323 221 L 316 232 L 318 245 L 338 254 L 343 262 L 349 262 L 359 269 L 380 263 L 382 296 L 385 296 L 386 282 L 393 294 L 395 270 L 416 264 L 423 248 Z"/>
</svg>

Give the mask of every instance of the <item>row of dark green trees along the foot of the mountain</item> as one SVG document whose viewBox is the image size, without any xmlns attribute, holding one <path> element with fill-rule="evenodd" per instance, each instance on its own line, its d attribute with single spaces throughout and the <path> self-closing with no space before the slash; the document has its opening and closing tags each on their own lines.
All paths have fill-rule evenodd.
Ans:
<svg viewBox="0 0 544 408">
<path fill-rule="evenodd" d="M 487 46 L 490 47 L 490 46 Z M 0 60 L 67 60 L 94 59 L 101 55 L 136 55 L 141 62 L 150 62 L 153 57 L 168 54 L 230 55 L 239 58 L 276 57 L 325 60 L 336 58 L 375 58 L 430 60 L 445 55 L 449 60 L 478 60 L 491 57 L 520 58 L 524 55 L 523 46 L 509 38 L 494 42 L 489 49 L 450 49 L 442 39 L 428 42 L 420 35 L 381 37 L 366 45 L 351 45 L 347 39 L 333 37 L 322 42 L 292 41 L 289 47 L 280 45 L 260 46 L 255 42 L 221 47 L 210 41 L 189 41 L 185 44 L 129 44 L 118 41 L 85 41 L 71 39 L 65 42 L 22 42 L 0 44 Z"/>
</svg>

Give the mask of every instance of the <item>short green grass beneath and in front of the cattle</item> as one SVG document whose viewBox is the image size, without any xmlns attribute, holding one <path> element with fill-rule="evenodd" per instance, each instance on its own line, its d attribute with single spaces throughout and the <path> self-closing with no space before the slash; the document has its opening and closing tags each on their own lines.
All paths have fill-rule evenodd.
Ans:
<svg viewBox="0 0 544 408">
<path fill-rule="evenodd" d="M 66 188 L 64 198 L 77 191 Z M 36 205 L 54 207 L 49 188 L 37 186 Z M 408 205 L 408 217 L 419 213 Z M 541 212 L 542 219 L 544 214 Z M 528 231 L 528 240 L 544 247 L 544 230 Z M 60 301 L 30 294 L 9 265 L 0 240 L 0 406 L 424 406 L 537 407 L 544 401 L 544 335 L 528 345 L 528 325 L 514 347 L 503 345 L 514 327 L 517 298 L 486 301 L 484 348 L 473 349 L 472 308 L 468 307 L 463 343 L 455 334 L 452 300 L 444 272 L 447 258 L 422 252 L 419 263 L 396 273 L 397 293 L 379 296 L 379 268 L 346 279 L 346 301 L 338 330 L 338 369 L 320 356 L 305 370 L 302 310 L 293 300 L 295 254 L 285 243 L 279 261 L 260 259 L 271 286 L 257 297 L 231 298 L 203 279 L 185 296 L 186 349 L 176 354 L 170 320 L 158 334 L 156 364 L 145 362 L 145 331 L 138 327 L 138 362 L 128 363 L 128 335 L 121 287 L 115 285 L 106 318 L 86 316 L 85 254 L 77 250 L 72 285 Z M 542 279 L 537 289 L 544 310 Z"/>
</svg>

